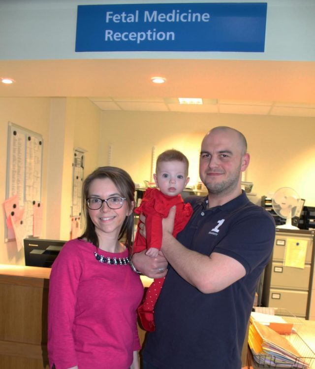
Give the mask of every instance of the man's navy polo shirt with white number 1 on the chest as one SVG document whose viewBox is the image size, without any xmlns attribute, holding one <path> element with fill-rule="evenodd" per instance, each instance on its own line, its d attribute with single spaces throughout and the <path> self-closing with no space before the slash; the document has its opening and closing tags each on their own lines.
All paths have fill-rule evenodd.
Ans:
<svg viewBox="0 0 315 369">
<path fill-rule="evenodd" d="M 257 283 L 275 238 L 272 216 L 245 194 L 207 209 L 207 197 L 191 197 L 194 209 L 179 242 L 204 255 L 240 262 L 246 275 L 224 290 L 204 294 L 170 266 L 155 307 L 156 331 L 143 356 L 159 369 L 240 369 L 241 351 Z"/>
</svg>

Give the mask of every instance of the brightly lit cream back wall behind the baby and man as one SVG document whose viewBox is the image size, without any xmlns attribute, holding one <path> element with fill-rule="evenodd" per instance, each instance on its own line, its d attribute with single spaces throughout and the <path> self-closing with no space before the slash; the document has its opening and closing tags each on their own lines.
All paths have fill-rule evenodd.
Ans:
<svg viewBox="0 0 315 369">
<path fill-rule="evenodd" d="M 107 163 L 112 144 L 113 166 L 126 169 L 135 182 L 150 180 L 152 147 L 182 150 L 189 158 L 191 182 L 198 176 L 198 154 L 204 134 L 216 126 L 240 130 L 248 140 L 251 164 L 246 180 L 254 183 L 251 200 L 280 187 L 292 187 L 315 206 L 315 118 L 188 114 L 153 112 L 103 112 L 100 147 Z"/>
</svg>

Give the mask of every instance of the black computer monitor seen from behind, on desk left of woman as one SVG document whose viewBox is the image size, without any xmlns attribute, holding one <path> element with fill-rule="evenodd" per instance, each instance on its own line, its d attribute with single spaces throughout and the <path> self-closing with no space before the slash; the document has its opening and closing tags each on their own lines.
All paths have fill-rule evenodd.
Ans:
<svg viewBox="0 0 315 369">
<path fill-rule="evenodd" d="M 66 241 L 24 238 L 25 265 L 51 268 Z"/>
</svg>

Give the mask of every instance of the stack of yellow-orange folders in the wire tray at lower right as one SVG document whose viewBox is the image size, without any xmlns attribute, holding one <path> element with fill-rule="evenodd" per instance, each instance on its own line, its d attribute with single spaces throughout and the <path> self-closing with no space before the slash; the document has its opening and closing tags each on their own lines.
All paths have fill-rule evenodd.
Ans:
<svg viewBox="0 0 315 369">
<path fill-rule="evenodd" d="M 257 364 L 267 368 L 308 369 L 309 364 L 284 336 L 251 318 L 249 346 Z"/>
</svg>

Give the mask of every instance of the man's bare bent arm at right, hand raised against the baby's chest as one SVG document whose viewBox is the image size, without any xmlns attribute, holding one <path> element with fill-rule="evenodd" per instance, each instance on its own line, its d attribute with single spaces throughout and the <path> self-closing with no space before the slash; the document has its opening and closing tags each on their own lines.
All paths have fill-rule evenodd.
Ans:
<svg viewBox="0 0 315 369">
<path fill-rule="evenodd" d="M 177 273 L 202 293 L 223 290 L 246 274 L 237 260 L 219 253 L 209 256 L 189 250 L 173 237 L 176 208 L 163 219 L 162 252 Z"/>
</svg>

